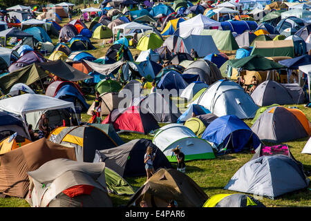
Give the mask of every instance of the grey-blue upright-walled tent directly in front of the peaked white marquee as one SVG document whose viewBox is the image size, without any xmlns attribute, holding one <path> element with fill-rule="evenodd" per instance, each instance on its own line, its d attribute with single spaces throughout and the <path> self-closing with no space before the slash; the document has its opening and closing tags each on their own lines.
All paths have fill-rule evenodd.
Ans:
<svg viewBox="0 0 311 221">
<path fill-rule="evenodd" d="M 198 57 L 205 57 L 211 53 L 219 53 L 210 35 L 189 35 L 185 38 L 180 37 L 176 42 L 174 53 L 182 52 L 190 54 L 192 48 L 196 50 Z"/>
</svg>

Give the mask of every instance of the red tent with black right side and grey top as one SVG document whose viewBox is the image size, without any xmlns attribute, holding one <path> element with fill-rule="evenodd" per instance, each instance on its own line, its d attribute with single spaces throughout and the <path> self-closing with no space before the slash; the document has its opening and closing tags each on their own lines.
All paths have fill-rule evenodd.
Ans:
<svg viewBox="0 0 311 221">
<path fill-rule="evenodd" d="M 111 111 L 102 124 L 113 124 L 115 131 L 143 134 L 159 128 L 153 115 L 137 106 Z"/>
</svg>

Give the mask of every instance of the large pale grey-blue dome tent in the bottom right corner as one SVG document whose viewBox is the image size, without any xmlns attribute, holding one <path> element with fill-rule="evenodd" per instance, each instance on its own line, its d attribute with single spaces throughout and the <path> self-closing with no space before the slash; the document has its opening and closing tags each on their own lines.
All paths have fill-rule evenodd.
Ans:
<svg viewBox="0 0 311 221">
<path fill-rule="evenodd" d="M 244 164 L 224 189 L 276 198 L 308 187 L 301 167 L 285 155 L 262 156 Z"/>
</svg>

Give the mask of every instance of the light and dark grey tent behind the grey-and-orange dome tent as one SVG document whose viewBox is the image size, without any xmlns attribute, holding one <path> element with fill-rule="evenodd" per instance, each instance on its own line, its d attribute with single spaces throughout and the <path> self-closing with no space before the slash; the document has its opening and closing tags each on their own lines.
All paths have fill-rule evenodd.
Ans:
<svg viewBox="0 0 311 221">
<path fill-rule="evenodd" d="M 299 84 L 279 84 L 271 80 L 259 84 L 251 97 L 258 106 L 305 103 L 305 95 Z"/>
</svg>

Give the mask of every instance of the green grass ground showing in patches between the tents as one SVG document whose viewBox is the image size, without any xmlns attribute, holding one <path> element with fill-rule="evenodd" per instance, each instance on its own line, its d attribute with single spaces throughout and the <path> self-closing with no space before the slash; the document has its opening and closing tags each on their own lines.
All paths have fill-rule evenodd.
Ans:
<svg viewBox="0 0 311 221">
<path fill-rule="evenodd" d="M 98 7 L 98 5 L 91 6 Z M 80 7 L 81 8 L 81 7 Z M 77 17 L 76 17 L 77 18 Z M 68 19 L 64 19 L 63 23 L 67 23 Z M 89 23 L 86 23 L 88 26 Z M 109 46 L 105 45 L 102 47 L 102 40 L 91 39 L 92 44 L 97 48 L 96 50 L 89 50 L 92 55 L 95 57 L 102 57 L 106 54 L 106 50 L 108 50 Z M 57 39 L 53 39 L 53 43 L 56 43 Z M 133 55 L 139 54 L 140 51 L 136 49 L 131 49 Z M 232 53 L 233 54 L 233 53 Z M 86 95 L 86 100 L 88 104 L 92 104 L 94 99 L 94 95 Z M 289 105 L 285 105 L 288 107 Z M 292 105 L 293 106 L 293 105 Z M 309 121 L 311 120 L 311 109 L 305 108 L 304 105 L 295 105 L 297 106 L 305 115 L 308 117 Z M 82 114 L 82 120 L 88 121 L 89 116 L 85 113 Z M 245 120 L 246 124 L 251 126 L 251 120 Z M 163 126 L 164 124 L 160 124 Z M 124 142 L 129 142 L 133 139 L 146 138 L 151 139 L 151 135 L 140 135 L 135 133 L 122 133 L 120 134 L 122 140 Z M 311 171 L 311 155 L 303 155 L 301 151 L 303 146 L 305 146 L 308 138 L 295 140 L 293 142 L 287 142 L 290 147 L 290 151 L 292 155 L 303 163 L 305 171 Z M 252 158 L 251 153 L 234 153 L 227 154 L 216 157 L 214 160 L 195 160 L 191 162 L 187 162 L 187 175 L 191 177 L 207 195 L 210 197 L 214 194 L 218 193 L 235 193 L 234 191 L 225 191 L 223 187 L 227 184 L 229 179 L 238 171 L 238 169 L 243 166 L 246 162 L 248 162 Z M 176 167 L 176 164 L 173 164 Z M 309 177 L 311 178 L 311 177 Z M 144 182 L 146 181 L 146 177 L 131 177 L 126 178 L 126 181 L 129 182 L 135 189 L 138 189 Z M 262 198 L 261 202 L 265 204 L 265 206 L 311 206 L 311 186 L 309 185 L 308 189 L 304 189 L 301 191 L 296 191 L 294 193 L 288 193 L 286 195 L 281 196 L 281 198 L 277 198 L 276 200 L 270 200 L 268 198 Z M 129 196 L 117 196 L 110 195 L 113 201 L 113 206 L 124 205 L 128 202 Z M 26 200 L 19 198 L 0 198 L 0 206 L 6 207 L 24 207 L 29 206 Z"/>
</svg>

